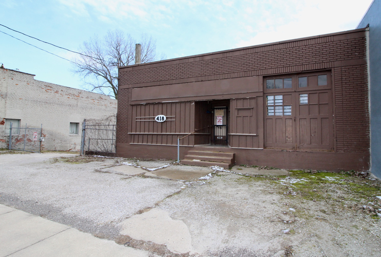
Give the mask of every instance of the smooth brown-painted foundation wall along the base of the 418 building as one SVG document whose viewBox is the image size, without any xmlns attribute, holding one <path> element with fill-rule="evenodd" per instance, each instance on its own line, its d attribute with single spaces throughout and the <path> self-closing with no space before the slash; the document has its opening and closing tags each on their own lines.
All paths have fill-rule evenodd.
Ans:
<svg viewBox="0 0 381 257">
<path fill-rule="evenodd" d="M 176 161 L 177 147 L 168 145 L 133 145 L 117 143 L 119 157 L 166 159 Z M 237 165 L 249 164 L 288 170 L 360 170 L 369 169 L 369 154 L 281 149 L 233 149 L 226 147 L 180 147 L 180 160 L 189 150 L 234 152 Z"/>
</svg>

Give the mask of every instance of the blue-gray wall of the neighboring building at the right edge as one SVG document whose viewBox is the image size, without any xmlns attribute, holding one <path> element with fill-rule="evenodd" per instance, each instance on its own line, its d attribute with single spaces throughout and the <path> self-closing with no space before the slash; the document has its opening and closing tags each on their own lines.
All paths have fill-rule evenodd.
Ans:
<svg viewBox="0 0 381 257">
<path fill-rule="evenodd" d="M 381 178 L 381 0 L 374 0 L 357 28 L 369 24 L 371 172 Z"/>
</svg>

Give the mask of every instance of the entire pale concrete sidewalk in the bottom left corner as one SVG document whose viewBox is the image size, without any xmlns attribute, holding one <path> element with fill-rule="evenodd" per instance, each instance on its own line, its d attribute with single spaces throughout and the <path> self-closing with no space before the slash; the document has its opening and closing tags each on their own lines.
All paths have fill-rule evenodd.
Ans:
<svg viewBox="0 0 381 257">
<path fill-rule="evenodd" d="M 0 204 L 0 257 L 149 255 Z"/>
</svg>

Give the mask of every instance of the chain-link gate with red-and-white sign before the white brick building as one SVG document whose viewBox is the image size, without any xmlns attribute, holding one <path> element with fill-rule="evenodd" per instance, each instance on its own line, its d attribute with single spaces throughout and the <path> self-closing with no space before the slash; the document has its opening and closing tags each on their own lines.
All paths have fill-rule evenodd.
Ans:
<svg viewBox="0 0 381 257">
<path fill-rule="evenodd" d="M 9 129 L 9 150 L 21 150 L 27 152 L 41 152 L 42 124 L 41 128 L 13 127 Z"/>
</svg>

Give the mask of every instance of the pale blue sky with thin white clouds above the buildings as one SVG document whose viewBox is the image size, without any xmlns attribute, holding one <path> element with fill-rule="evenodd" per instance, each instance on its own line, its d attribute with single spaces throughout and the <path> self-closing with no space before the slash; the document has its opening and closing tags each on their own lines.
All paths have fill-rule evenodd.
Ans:
<svg viewBox="0 0 381 257">
<path fill-rule="evenodd" d="M 121 29 L 157 40 L 168 59 L 355 29 L 372 0 L 3 0 L 0 24 L 77 51 Z M 0 26 L 0 31 L 71 60 L 74 53 Z M 0 32 L 0 63 L 35 79 L 82 88 L 72 64 Z"/>
</svg>

